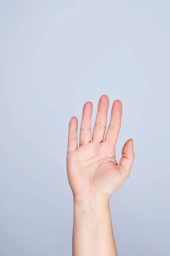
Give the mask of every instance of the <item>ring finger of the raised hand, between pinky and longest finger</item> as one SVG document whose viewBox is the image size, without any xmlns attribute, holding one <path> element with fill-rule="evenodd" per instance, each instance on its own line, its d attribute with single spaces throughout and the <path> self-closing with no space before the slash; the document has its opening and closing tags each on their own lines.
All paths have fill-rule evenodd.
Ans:
<svg viewBox="0 0 170 256">
<path fill-rule="evenodd" d="M 82 111 L 82 122 L 80 126 L 79 145 L 87 144 L 91 141 L 91 115 L 93 104 L 86 102 Z"/>
</svg>

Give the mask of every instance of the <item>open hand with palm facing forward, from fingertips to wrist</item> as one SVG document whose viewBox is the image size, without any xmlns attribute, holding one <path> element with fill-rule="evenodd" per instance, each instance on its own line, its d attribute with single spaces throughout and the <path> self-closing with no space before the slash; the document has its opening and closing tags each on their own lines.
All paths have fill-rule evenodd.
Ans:
<svg viewBox="0 0 170 256">
<path fill-rule="evenodd" d="M 127 140 L 122 148 L 122 158 L 117 163 L 115 147 L 121 126 L 122 103 L 119 100 L 113 102 L 111 120 L 105 134 L 108 106 L 108 96 L 101 96 L 91 140 L 93 105 L 91 102 L 85 103 L 82 112 L 79 148 L 77 143 L 78 121 L 75 116 L 70 120 L 67 172 L 75 201 L 90 198 L 108 199 L 129 177 L 135 158 L 133 140 Z"/>
</svg>

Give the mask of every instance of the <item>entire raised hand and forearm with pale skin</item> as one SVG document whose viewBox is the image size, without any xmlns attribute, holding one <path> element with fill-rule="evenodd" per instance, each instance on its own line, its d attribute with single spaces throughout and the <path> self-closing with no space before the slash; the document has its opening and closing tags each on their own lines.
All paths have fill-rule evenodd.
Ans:
<svg viewBox="0 0 170 256">
<path fill-rule="evenodd" d="M 109 198 L 129 177 L 135 155 L 133 140 L 127 140 L 117 163 L 115 147 L 121 126 L 122 103 L 119 100 L 113 102 L 106 131 L 108 106 L 108 96 L 102 95 L 91 136 L 93 105 L 85 103 L 79 146 L 78 120 L 73 116 L 69 123 L 67 172 L 74 195 L 73 256 L 117 256 Z"/>
</svg>

